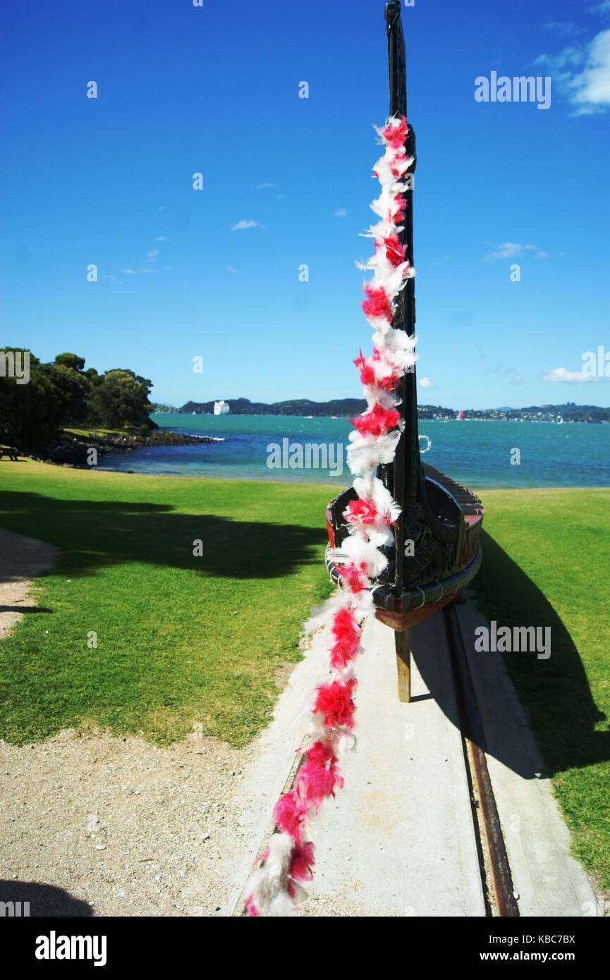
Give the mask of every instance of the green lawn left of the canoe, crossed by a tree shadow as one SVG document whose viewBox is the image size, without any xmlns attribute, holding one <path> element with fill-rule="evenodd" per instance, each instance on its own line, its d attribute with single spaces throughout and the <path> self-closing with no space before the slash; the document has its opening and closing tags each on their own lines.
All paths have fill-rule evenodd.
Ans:
<svg viewBox="0 0 610 980">
<path fill-rule="evenodd" d="M 332 490 L 0 464 L 0 525 L 61 549 L 0 646 L 0 737 L 96 724 L 159 744 L 193 722 L 243 745 L 330 584 Z M 203 555 L 193 557 L 193 542 Z M 87 646 L 97 633 L 97 648 Z"/>
</svg>

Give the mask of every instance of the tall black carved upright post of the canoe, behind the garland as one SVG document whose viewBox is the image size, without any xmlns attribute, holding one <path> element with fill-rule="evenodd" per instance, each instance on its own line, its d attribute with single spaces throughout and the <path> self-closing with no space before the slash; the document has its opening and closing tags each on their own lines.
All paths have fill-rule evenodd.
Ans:
<svg viewBox="0 0 610 980">
<path fill-rule="evenodd" d="M 400 19 L 400 2 L 391 0 L 385 4 L 385 20 L 387 22 L 387 59 L 389 72 L 389 113 L 390 116 L 407 115 L 407 81 L 405 64 L 405 43 Z M 406 153 L 415 158 L 415 133 L 409 123 Z M 413 173 L 415 160 L 404 177 L 408 189 L 404 193 L 406 209 L 404 230 L 400 240 L 407 246 L 406 257 L 411 265 L 413 258 Z M 415 280 L 407 279 L 407 283 L 399 294 L 396 302 L 393 325 L 396 329 L 406 330 L 412 336 L 415 333 Z M 423 478 L 422 464 L 417 423 L 417 383 L 415 367 L 406 374 L 398 389 L 402 399 L 400 413 L 404 419 L 404 432 L 396 449 L 394 462 L 389 466 L 380 467 L 382 481 L 392 493 L 394 500 L 402 509 L 402 515 L 395 531 L 394 551 L 394 581 L 393 592 L 400 599 L 404 591 L 403 561 L 405 543 L 405 518 L 412 511 L 418 498 L 418 485 Z"/>
</svg>

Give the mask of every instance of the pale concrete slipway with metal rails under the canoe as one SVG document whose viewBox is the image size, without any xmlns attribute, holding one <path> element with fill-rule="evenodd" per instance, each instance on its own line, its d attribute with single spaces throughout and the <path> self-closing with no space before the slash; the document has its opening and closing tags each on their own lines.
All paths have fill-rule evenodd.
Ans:
<svg viewBox="0 0 610 980">
<path fill-rule="evenodd" d="M 540 775 L 526 717 L 498 654 L 474 651 L 484 623 L 458 607 L 477 692 L 487 765 L 523 916 L 600 914 L 570 835 Z M 393 633 L 365 632 L 358 663 L 358 746 L 343 762 L 345 787 L 312 828 L 316 874 L 303 915 L 483 916 L 483 885 L 441 614 L 412 633 L 413 699 L 396 693 Z M 252 850 L 225 858 L 221 914 L 238 913 L 250 866 L 271 832 L 270 814 L 294 765 L 303 706 L 327 674 L 325 638 L 293 671 L 260 754 L 245 774 L 240 824 Z M 241 851 L 241 849 L 239 849 Z"/>
</svg>

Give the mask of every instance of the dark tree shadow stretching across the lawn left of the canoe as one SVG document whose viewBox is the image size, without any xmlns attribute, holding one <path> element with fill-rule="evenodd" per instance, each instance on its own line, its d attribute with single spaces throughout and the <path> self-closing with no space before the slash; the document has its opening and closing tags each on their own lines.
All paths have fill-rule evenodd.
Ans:
<svg viewBox="0 0 610 980">
<path fill-rule="evenodd" d="M 282 515 L 283 516 L 283 515 Z M 4 526 L 62 549 L 62 571 L 147 562 L 223 578 L 280 578 L 320 562 L 323 528 L 179 514 L 169 505 L 0 493 Z M 201 556 L 195 557 L 195 542 Z M 0 575 L 0 581 L 2 580 Z"/>
</svg>

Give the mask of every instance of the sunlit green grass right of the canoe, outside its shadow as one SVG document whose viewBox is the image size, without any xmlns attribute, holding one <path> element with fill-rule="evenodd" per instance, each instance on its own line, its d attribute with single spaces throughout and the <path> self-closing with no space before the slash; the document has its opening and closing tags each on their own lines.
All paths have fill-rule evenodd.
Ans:
<svg viewBox="0 0 610 980">
<path fill-rule="evenodd" d="M 505 661 L 574 854 L 610 888 L 610 490 L 484 491 L 483 611 L 503 625 L 550 626 L 551 656 Z"/>
</svg>

